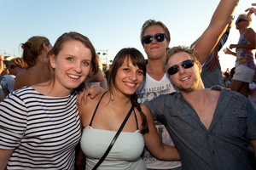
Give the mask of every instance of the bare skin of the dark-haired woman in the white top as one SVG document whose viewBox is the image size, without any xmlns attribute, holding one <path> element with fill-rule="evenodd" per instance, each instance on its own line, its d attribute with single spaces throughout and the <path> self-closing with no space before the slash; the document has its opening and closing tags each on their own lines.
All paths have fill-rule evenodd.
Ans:
<svg viewBox="0 0 256 170">
<path fill-rule="evenodd" d="M 124 62 L 126 63 L 126 62 Z M 129 68 L 129 71 L 125 69 Z M 122 65 L 119 68 L 116 84 L 118 88 L 114 88 L 113 101 L 111 100 L 111 94 L 108 92 L 102 98 L 96 115 L 92 122 L 92 127 L 97 129 L 105 129 L 109 131 L 117 132 L 119 126 L 124 121 L 127 112 L 131 108 L 131 94 L 136 92 L 140 83 L 143 82 L 143 74 L 139 73 L 140 70 L 137 66 L 129 64 Z M 134 83 L 136 88 L 131 88 L 127 83 Z M 96 105 L 102 94 L 96 96 L 95 99 L 87 99 L 87 105 L 79 105 L 79 114 L 81 120 L 81 127 L 87 127 L 90 124 L 91 117 L 96 109 Z M 154 127 L 154 120 L 151 112 L 145 105 L 141 105 L 142 111 L 147 116 L 149 133 L 143 134 L 145 144 L 150 152 L 161 160 L 179 160 L 179 155 L 176 148 L 172 146 L 163 145 L 160 141 L 160 136 Z M 142 120 L 139 111 L 135 108 L 138 126 L 142 128 Z M 137 122 L 134 114 L 132 113 L 130 118 L 125 124 L 122 132 L 134 133 L 137 131 Z"/>
</svg>

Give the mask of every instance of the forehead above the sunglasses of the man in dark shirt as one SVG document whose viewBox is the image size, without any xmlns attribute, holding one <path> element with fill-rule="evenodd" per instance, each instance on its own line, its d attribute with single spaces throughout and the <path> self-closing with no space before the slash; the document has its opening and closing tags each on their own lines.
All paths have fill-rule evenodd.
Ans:
<svg viewBox="0 0 256 170">
<path fill-rule="evenodd" d="M 187 59 L 193 59 L 193 57 L 185 52 L 179 52 L 177 54 L 172 55 L 172 57 L 170 57 L 170 59 L 168 60 L 168 67 L 171 67 L 172 65 L 177 65 L 182 63 L 184 60 Z"/>
</svg>

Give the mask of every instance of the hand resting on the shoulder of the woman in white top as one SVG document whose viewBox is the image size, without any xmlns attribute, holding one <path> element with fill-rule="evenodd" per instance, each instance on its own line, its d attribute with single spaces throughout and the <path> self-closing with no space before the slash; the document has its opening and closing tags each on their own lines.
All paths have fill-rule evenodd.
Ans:
<svg viewBox="0 0 256 170">
<path fill-rule="evenodd" d="M 77 97 L 77 105 L 81 105 L 82 99 L 84 99 L 84 105 L 87 103 L 87 96 L 90 95 L 90 99 L 94 99 L 97 94 L 101 93 L 100 86 L 91 86 L 92 88 L 83 89 Z"/>
</svg>

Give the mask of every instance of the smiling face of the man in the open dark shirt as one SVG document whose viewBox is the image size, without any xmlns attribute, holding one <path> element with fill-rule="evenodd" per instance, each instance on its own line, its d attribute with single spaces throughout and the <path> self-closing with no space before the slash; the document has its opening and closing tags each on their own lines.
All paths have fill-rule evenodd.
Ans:
<svg viewBox="0 0 256 170">
<path fill-rule="evenodd" d="M 173 54 L 167 62 L 168 68 L 173 65 L 179 65 L 177 73 L 169 75 L 169 77 L 181 93 L 203 88 L 203 84 L 201 82 L 201 64 L 195 63 L 194 66 L 185 69 L 180 64 L 187 59 L 193 59 L 193 57 L 188 53 L 179 52 L 177 54 Z"/>
</svg>

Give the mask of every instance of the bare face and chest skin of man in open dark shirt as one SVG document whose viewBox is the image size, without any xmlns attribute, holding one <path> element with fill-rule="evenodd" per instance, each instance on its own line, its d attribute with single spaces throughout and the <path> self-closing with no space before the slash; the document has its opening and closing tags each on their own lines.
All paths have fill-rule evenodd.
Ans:
<svg viewBox="0 0 256 170">
<path fill-rule="evenodd" d="M 168 60 L 168 68 L 172 65 L 177 65 L 182 63 L 184 60 L 194 59 L 189 54 L 177 53 L 172 55 Z M 201 122 L 204 126 L 209 129 L 214 111 L 218 104 L 219 91 L 208 90 L 204 88 L 201 77 L 198 77 L 201 73 L 201 64 L 194 65 L 189 69 L 183 69 L 179 66 L 179 71 L 169 76 L 172 82 L 178 87 L 183 87 L 184 90 L 180 90 L 183 98 L 189 102 L 189 104 L 195 109 L 197 115 L 199 116 Z M 185 81 L 183 81 L 185 80 Z M 250 140 L 253 145 L 253 150 L 256 150 L 256 139 Z M 256 152 L 255 152 L 256 158 Z"/>
</svg>

